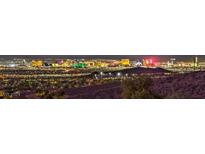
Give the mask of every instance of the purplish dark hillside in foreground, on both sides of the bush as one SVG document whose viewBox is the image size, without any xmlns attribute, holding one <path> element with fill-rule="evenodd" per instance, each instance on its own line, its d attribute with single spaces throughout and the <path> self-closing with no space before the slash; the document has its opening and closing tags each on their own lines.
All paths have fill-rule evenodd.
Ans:
<svg viewBox="0 0 205 154">
<path fill-rule="evenodd" d="M 167 78 L 153 79 L 150 90 L 160 98 L 205 98 L 205 72 L 192 72 L 176 74 Z M 65 93 L 67 98 L 122 98 L 120 82 L 90 86 L 83 88 L 68 89 Z"/>
</svg>

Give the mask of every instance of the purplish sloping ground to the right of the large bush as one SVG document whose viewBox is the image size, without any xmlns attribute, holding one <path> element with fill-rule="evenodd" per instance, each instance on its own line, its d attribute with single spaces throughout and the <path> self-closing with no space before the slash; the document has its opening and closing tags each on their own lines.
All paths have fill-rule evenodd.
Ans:
<svg viewBox="0 0 205 154">
<path fill-rule="evenodd" d="M 205 98 L 205 72 L 178 74 L 153 83 L 153 91 L 162 98 Z"/>
</svg>

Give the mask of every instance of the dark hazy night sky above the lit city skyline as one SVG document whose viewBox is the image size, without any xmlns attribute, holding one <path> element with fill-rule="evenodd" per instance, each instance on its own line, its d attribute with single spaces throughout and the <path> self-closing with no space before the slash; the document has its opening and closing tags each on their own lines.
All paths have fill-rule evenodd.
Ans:
<svg viewBox="0 0 205 154">
<path fill-rule="evenodd" d="M 25 58 L 25 59 L 122 59 L 142 60 L 153 58 L 155 61 L 167 61 L 176 58 L 177 61 L 193 61 L 195 55 L 0 55 L 2 59 Z M 199 61 L 205 61 L 205 55 L 198 55 Z"/>
</svg>

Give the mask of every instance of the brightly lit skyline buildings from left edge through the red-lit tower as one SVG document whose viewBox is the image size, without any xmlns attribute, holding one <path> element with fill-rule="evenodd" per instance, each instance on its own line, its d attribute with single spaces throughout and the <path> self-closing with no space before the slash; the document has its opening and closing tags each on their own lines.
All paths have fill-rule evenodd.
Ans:
<svg viewBox="0 0 205 154">
<path fill-rule="evenodd" d="M 152 59 L 131 61 L 130 59 L 13 59 L 0 60 L 0 67 L 69 67 L 69 68 L 100 68 L 100 67 L 152 67 Z"/>
</svg>

